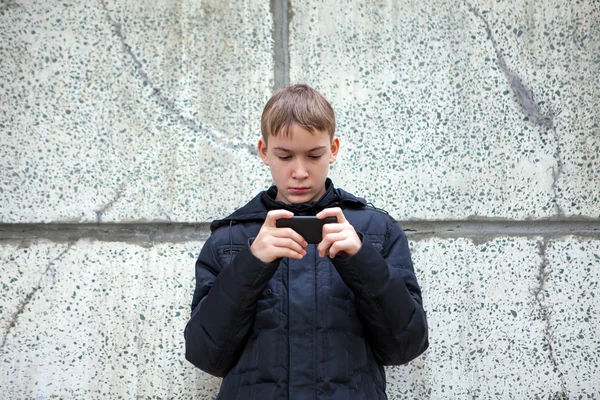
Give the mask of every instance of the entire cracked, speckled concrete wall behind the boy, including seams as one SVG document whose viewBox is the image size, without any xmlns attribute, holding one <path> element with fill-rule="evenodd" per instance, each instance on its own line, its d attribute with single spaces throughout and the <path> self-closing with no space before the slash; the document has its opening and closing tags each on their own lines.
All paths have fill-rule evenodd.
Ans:
<svg viewBox="0 0 600 400">
<path fill-rule="evenodd" d="M 0 387 L 199 398 L 207 223 L 270 184 L 262 106 L 332 102 L 334 182 L 407 230 L 431 347 L 390 399 L 600 398 L 594 0 L 0 2 Z"/>
</svg>

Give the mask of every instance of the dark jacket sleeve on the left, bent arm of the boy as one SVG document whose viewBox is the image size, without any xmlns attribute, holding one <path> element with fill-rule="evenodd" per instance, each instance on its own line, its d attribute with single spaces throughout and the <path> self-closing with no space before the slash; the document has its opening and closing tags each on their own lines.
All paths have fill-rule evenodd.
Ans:
<svg viewBox="0 0 600 400">
<path fill-rule="evenodd" d="M 212 237 L 196 261 L 192 315 L 185 327 L 185 358 L 214 376 L 225 376 L 238 361 L 250 335 L 256 303 L 279 261 L 265 264 L 249 245 L 222 267 Z"/>
</svg>

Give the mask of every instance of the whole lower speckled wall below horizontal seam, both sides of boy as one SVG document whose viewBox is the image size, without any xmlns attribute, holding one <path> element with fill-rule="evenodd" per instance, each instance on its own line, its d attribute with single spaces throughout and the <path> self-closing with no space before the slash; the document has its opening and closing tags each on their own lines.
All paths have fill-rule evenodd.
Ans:
<svg viewBox="0 0 600 400">
<path fill-rule="evenodd" d="M 390 399 L 598 396 L 600 240 L 410 245 L 431 346 L 387 368 Z M 220 380 L 184 360 L 200 247 L 87 240 L 0 247 L 7 398 L 212 398 Z"/>
</svg>

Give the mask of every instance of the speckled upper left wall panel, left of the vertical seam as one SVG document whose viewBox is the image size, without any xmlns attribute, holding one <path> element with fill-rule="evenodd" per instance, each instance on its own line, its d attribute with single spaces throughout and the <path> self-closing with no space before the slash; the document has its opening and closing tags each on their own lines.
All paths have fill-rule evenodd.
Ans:
<svg viewBox="0 0 600 400">
<path fill-rule="evenodd" d="M 205 221 L 267 184 L 268 3 L 0 7 L 3 222 Z"/>
</svg>

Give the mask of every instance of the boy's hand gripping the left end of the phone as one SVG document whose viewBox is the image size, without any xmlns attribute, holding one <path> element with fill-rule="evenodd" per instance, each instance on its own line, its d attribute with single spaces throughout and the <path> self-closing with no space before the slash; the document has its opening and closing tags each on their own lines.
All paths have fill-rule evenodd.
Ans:
<svg viewBox="0 0 600 400">
<path fill-rule="evenodd" d="M 275 221 L 280 218 L 292 218 L 293 213 L 286 210 L 272 210 L 267 213 L 265 223 L 260 228 L 250 251 L 264 263 L 278 258 L 289 257 L 301 259 L 306 255 L 306 240 L 292 228 L 277 228 Z"/>
</svg>

